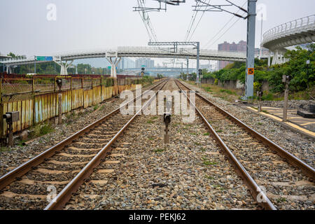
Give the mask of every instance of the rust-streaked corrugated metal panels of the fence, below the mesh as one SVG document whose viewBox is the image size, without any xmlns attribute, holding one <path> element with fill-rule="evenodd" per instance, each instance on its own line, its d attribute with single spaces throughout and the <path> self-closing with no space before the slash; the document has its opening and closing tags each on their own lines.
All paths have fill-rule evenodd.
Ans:
<svg viewBox="0 0 315 224">
<path fill-rule="evenodd" d="M 99 104 L 116 94 L 120 94 L 123 90 L 135 90 L 135 86 L 134 84 L 115 85 L 111 87 L 98 85 L 91 87 L 89 90 L 85 90 L 84 88 L 63 90 L 62 113 Z M 19 111 L 20 120 L 13 123 L 13 132 L 19 132 L 31 127 L 31 125 L 58 116 L 58 103 L 58 92 L 35 94 L 31 99 L 1 102 L 0 113 L 2 116 L 6 112 Z M 5 119 L 3 119 L 2 125 L 1 137 L 5 137 L 7 133 Z"/>
</svg>

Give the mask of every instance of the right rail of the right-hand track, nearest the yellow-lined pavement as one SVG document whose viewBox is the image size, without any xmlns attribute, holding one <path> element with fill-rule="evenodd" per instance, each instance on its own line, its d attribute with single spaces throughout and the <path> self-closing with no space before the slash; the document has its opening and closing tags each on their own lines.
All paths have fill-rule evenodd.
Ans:
<svg viewBox="0 0 315 224">
<path fill-rule="evenodd" d="M 188 88 L 190 90 L 190 88 L 187 87 L 186 85 L 184 85 L 183 83 L 181 83 L 181 85 L 185 86 L 186 88 Z M 224 116 L 228 116 L 228 118 L 230 118 L 231 120 L 234 120 L 235 123 L 237 123 L 237 125 L 239 125 L 240 127 L 244 128 L 246 130 L 246 132 L 248 132 L 248 134 L 251 134 L 253 137 L 258 139 L 259 141 L 262 141 L 263 144 L 265 144 L 266 146 L 268 146 L 271 149 L 272 153 L 276 153 L 281 158 L 286 160 L 286 162 L 290 163 L 290 165 L 293 165 L 294 167 L 300 168 L 305 175 L 309 176 L 311 181 L 315 181 L 315 169 L 313 167 L 307 165 L 307 163 L 303 162 L 302 160 L 297 158 L 295 155 L 292 155 L 291 153 L 289 153 L 285 149 L 281 148 L 281 146 L 277 145 L 273 141 L 267 139 L 267 137 L 265 137 L 264 135 L 260 134 L 259 132 L 256 132 L 251 127 L 248 127 L 248 125 L 243 123 L 238 118 L 235 118 L 235 116 L 232 116 L 232 114 L 228 113 L 227 111 L 225 111 L 221 107 L 210 102 L 209 99 L 206 99 L 205 97 L 198 94 L 197 92 L 196 92 L 196 94 L 198 97 L 203 99 L 204 102 L 207 102 L 207 104 L 211 104 L 211 106 L 214 106 Z"/>
</svg>

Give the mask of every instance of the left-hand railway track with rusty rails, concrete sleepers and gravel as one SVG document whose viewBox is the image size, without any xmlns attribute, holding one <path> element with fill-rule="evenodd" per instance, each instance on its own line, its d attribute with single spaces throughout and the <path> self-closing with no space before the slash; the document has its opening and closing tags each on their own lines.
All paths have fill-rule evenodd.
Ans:
<svg viewBox="0 0 315 224">
<path fill-rule="evenodd" d="M 162 80 L 151 90 L 158 92 L 166 83 L 167 80 Z M 151 99 L 144 107 L 150 103 Z M 88 179 L 94 167 L 111 152 L 111 145 L 141 110 L 134 116 L 122 115 L 119 111 L 120 108 L 116 109 L 1 176 L 0 207 L 62 209 L 71 194 Z M 109 170 L 104 169 L 102 172 Z M 95 183 L 103 184 L 104 181 Z M 51 201 L 48 201 L 48 196 Z"/>
</svg>

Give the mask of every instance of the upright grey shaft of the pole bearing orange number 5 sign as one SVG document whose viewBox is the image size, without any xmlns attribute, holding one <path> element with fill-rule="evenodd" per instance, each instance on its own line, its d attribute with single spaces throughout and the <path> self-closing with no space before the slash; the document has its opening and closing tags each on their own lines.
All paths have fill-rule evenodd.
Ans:
<svg viewBox="0 0 315 224">
<path fill-rule="evenodd" d="M 253 97 L 254 71 L 248 73 L 248 69 L 254 69 L 255 65 L 256 2 L 257 0 L 248 0 L 245 99 Z"/>
</svg>

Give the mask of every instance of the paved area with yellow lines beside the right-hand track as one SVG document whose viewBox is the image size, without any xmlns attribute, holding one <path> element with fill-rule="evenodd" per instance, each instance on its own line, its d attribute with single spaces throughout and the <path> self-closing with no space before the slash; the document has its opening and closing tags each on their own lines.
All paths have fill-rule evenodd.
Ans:
<svg viewBox="0 0 315 224">
<path fill-rule="evenodd" d="M 258 113 L 258 111 L 256 109 L 253 109 L 251 106 L 246 106 L 246 108 Z M 288 110 L 288 121 L 283 123 L 283 109 L 262 106 L 262 111 L 263 112 L 261 112 L 260 115 L 272 118 L 272 120 L 276 120 L 286 127 L 290 127 L 291 130 L 296 130 L 301 134 L 306 134 L 308 137 L 315 138 L 315 119 L 303 118 L 297 115 L 297 110 Z"/>
</svg>

